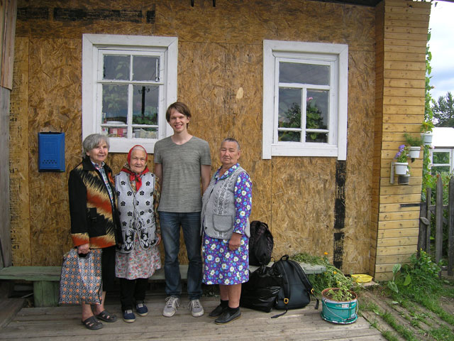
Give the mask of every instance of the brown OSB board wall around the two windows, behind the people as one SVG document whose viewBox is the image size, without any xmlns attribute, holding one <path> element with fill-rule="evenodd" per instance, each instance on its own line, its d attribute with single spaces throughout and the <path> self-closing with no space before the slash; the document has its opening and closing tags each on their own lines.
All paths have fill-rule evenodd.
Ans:
<svg viewBox="0 0 454 341">
<path fill-rule="evenodd" d="M 55 10 L 62 7 L 83 9 L 79 13 L 85 14 L 63 20 L 62 12 Z M 36 141 L 43 129 L 64 131 L 67 171 L 79 161 L 82 33 L 155 34 L 179 38 L 178 96 L 194 114 L 191 134 L 209 141 L 212 171 L 220 164 L 217 151 L 221 140 L 233 136 L 240 141 L 241 164 L 253 178 L 251 219 L 270 225 L 276 257 L 299 251 L 332 255 L 338 189 L 334 158 L 261 159 L 262 40 L 349 45 L 343 269 L 367 272 L 375 9 L 299 0 L 216 1 L 216 7 L 212 1 L 195 1 L 194 7 L 189 0 L 111 1 L 109 9 L 141 13 L 134 19 L 132 15 L 122 17 L 122 21 L 101 9 L 106 9 L 102 1 L 40 1 L 40 9 L 25 0 L 18 4 L 16 36 L 28 39 L 30 45 L 21 58 L 31 60 L 28 185 L 31 235 L 37 239 L 30 245 L 34 264 L 60 264 L 62 252 L 70 247 L 67 173 L 37 172 Z M 104 13 L 104 18 L 99 13 Z M 125 160 L 125 154 L 109 156 L 114 171 Z M 22 247 L 29 246 L 24 243 Z"/>
</svg>

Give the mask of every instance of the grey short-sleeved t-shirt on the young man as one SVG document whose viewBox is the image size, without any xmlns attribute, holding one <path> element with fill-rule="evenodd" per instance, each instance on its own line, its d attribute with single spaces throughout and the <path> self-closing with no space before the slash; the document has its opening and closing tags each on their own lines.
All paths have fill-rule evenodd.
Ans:
<svg viewBox="0 0 454 341">
<path fill-rule="evenodd" d="M 200 212 L 200 166 L 211 166 L 208 142 L 195 136 L 185 144 L 166 137 L 155 144 L 155 163 L 162 165 L 162 188 L 158 210 Z"/>
</svg>

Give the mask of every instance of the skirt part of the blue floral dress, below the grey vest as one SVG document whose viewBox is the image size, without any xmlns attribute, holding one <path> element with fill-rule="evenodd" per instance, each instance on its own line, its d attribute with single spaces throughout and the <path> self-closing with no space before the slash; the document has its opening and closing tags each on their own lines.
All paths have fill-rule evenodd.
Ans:
<svg viewBox="0 0 454 341">
<path fill-rule="evenodd" d="M 240 247 L 228 249 L 228 239 L 211 238 L 204 234 L 202 244 L 204 254 L 205 284 L 226 286 L 249 281 L 249 238 L 241 237 Z"/>
</svg>

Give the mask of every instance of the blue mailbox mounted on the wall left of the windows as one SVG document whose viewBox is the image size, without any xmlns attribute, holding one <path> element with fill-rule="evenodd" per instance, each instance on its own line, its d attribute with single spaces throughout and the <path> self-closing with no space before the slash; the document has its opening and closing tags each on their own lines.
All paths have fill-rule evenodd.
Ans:
<svg viewBox="0 0 454 341">
<path fill-rule="evenodd" d="M 38 171 L 65 171 L 65 133 L 38 133 Z"/>
</svg>

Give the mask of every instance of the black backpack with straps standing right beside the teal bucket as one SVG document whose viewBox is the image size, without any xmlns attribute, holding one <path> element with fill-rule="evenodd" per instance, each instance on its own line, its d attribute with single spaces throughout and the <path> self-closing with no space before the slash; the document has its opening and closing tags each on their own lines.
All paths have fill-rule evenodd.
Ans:
<svg viewBox="0 0 454 341">
<path fill-rule="evenodd" d="M 275 308 L 285 310 L 284 313 L 272 316 L 272 318 L 284 315 L 289 309 L 304 308 L 311 302 L 310 294 L 314 295 L 314 288 L 296 261 L 290 260 L 286 254 L 275 262 L 272 268 L 275 268 L 275 272 L 282 276 L 281 289 L 277 294 Z M 316 298 L 315 309 L 318 308 L 319 299 Z"/>
</svg>

